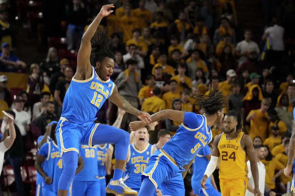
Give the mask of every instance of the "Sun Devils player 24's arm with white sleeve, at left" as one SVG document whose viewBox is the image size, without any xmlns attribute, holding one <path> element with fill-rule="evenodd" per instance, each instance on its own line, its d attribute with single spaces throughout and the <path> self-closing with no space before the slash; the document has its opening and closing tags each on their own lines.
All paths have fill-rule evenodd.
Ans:
<svg viewBox="0 0 295 196">
<path fill-rule="evenodd" d="M 202 180 L 200 182 L 202 188 L 207 188 L 207 187 L 205 187 L 207 178 L 216 169 L 216 166 L 217 166 L 217 163 L 218 163 L 218 159 L 219 159 L 219 155 L 220 155 L 219 150 L 218 150 L 218 143 L 220 141 L 221 135 L 222 134 L 216 135 L 216 137 L 214 138 L 212 155 L 211 155 L 210 161 L 209 161 L 209 163 L 207 165 L 207 168 L 206 168 L 206 171 L 204 173 L 204 176 L 203 176 L 203 178 L 202 178 Z"/>
</svg>

